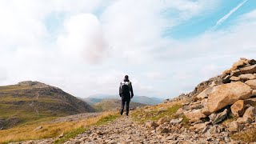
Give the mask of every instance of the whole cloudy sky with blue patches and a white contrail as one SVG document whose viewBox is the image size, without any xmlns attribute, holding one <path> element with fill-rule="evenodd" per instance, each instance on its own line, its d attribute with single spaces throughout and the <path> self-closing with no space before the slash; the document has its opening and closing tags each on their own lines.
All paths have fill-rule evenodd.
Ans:
<svg viewBox="0 0 256 144">
<path fill-rule="evenodd" d="M 256 56 L 255 0 L 0 0 L 0 85 L 174 98 Z"/>
</svg>

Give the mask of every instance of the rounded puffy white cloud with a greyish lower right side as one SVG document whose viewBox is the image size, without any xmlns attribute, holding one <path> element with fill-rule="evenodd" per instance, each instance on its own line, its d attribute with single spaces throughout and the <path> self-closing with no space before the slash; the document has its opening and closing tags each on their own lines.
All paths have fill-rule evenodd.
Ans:
<svg viewBox="0 0 256 144">
<path fill-rule="evenodd" d="M 106 56 L 107 44 L 94 14 L 74 15 L 66 20 L 64 27 L 64 34 L 58 37 L 58 46 L 67 57 L 82 57 L 98 63 Z"/>
</svg>

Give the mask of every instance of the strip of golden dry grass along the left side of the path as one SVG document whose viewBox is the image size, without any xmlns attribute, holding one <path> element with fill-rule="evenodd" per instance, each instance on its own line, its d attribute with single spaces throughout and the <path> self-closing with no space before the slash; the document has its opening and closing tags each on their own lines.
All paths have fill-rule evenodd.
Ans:
<svg viewBox="0 0 256 144">
<path fill-rule="evenodd" d="M 86 126 L 102 125 L 106 122 L 113 121 L 118 118 L 117 112 L 105 112 L 99 114 L 95 118 L 87 118 L 79 122 L 33 122 L 30 124 L 16 126 L 10 130 L 0 130 L 0 143 L 21 142 L 33 139 L 56 138 L 60 134 L 64 134 L 63 138 L 56 140 L 55 143 L 65 142 L 69 138 L 74 138 L 78 134 L 82 134 L 87 130 Z M 38 126 L 42 129 L 34 131 Z"/>
</svg>

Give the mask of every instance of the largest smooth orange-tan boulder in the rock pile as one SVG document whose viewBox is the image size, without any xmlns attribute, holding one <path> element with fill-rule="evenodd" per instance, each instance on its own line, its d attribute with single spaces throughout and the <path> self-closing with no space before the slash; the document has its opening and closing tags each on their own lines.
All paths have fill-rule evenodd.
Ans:
<svg viewBox="0 0 256 144">
<path fill-rule="evenodd" d="M 239 99 L 250 98 L 251 94 L 252 90 L 250 86 L 247 86 L 243 82 L 214 86 L 209 94 L 206 106 L 210 113 L 214 113 L 227 105 L 232 105 Z"/>
</svg>

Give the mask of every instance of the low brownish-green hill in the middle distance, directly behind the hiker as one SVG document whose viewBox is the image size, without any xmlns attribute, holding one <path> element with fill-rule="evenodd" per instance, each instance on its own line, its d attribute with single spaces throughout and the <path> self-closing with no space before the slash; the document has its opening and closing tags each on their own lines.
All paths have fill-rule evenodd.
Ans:
<svg viewBox="0 0 256 144">
<path fill-rule="evenodd" d="M 145 104 L 138 102 L 130 102 L 130 108 L 146 106 Z M 94 103 L 93 105 L 95 110 L 98 111 L 107 111 L 107 110 L 116 110 L 121 107 L 120 99 L 104 99 L 102 102 Z"/>
</svg>

